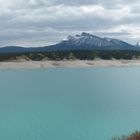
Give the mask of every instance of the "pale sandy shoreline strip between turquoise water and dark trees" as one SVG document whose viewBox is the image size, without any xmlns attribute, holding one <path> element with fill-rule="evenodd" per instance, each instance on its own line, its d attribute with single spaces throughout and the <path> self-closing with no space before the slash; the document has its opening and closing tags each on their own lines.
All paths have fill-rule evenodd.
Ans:
<svg viewBox="0 0 140 140">
<path fill-rule="evenodd" d="M 140 60 L 63 60 L 63 61 L 22 61 L 0 62 L 0 70 L 33 68 L 84 68 L 140 66 Z"/>
</svg>

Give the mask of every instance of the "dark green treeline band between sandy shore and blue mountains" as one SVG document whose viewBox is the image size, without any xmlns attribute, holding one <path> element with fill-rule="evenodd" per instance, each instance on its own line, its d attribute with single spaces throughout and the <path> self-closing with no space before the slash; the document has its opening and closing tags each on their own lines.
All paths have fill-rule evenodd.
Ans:
<svg viewBox="0 0 140 140">
<path fill-rule="evenodd" d="M 58 51 L 58 52 L 33 52 L 33 53 L 1 53 L 0 61 L 17 60 L 94 60 L 94 59 L 139 59 L 139 51 Z"/>
</svg>

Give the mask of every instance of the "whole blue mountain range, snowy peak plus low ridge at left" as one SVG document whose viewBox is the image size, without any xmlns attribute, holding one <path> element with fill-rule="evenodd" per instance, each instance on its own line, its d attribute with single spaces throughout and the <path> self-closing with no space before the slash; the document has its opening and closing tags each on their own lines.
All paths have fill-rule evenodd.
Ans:
<svg viewBox="0 0 140 140">
<path fill-rule="evenodd" d="M 83 32 L 81 35 L 68 36 L 55 45 L 45 47 L 20 47 L 8 46 L 0 48 L 0 53 L 25 53 L 25 52 L 52 52 L 52 51 L 74 51 L 74 50 L 133 50 L 140 51 L 140 47 L 127 42 L 112 38 L 101 38 Z"/>
</svg>

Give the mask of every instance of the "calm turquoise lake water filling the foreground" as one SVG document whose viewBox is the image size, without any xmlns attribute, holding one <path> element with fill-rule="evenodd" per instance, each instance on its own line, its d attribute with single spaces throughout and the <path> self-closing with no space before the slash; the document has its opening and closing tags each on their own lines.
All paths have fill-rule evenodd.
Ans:
<svg viewBox="0 0 140 140">
<path fill-rule="evenodd" d="M 140 130 L 140 67 L 0 71 L 0 140 L 111 140 Z"/>
</svg>

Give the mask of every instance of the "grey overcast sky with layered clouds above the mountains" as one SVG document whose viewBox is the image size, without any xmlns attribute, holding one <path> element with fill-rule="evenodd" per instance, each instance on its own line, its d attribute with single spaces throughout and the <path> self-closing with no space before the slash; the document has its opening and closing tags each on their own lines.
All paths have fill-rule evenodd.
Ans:
<svg viewBox="0 0 140 140">
<path fill-rule="evenodd" d="M 0 0 L 0 47 L 44 46 L 89 32 L 140 42 L 140 0 Z"/>
</svg>

